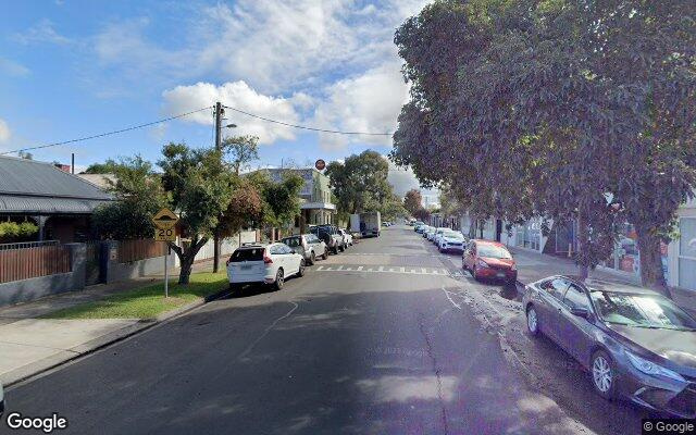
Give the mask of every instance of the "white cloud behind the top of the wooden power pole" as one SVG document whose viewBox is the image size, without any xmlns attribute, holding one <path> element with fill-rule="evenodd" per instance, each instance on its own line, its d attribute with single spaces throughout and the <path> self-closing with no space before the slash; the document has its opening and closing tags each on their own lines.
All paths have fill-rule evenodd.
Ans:
<svg viewBox="0 0 696 435">
<path fill-rule="evenodd" d="M 303 107 L 311 101 L 311 98 L 304 94 L 296 94 L 290 98 L 265 96 L 257 92 L 243 80 L 225 83 L 222 86 L 210 83 L 177 86 L 165 90 L 162 96 L 167 114 L 183 113 L 220 101 L 245 112 L 294 124 L 299 123 L 300 120 L 296 107 Z M 291 127 L 268 123 L 232 110 L 226 111 L 225 117 L 227 123 L 237 124 L 237 128 L 226 130 L 231 135 L 258 136 L 260 144 L 295 139 L 295 130 Z M 212 115 L 208 112 L 199 112 L 185 120 L 206 125 L 213 123 Z"/>
</svg>

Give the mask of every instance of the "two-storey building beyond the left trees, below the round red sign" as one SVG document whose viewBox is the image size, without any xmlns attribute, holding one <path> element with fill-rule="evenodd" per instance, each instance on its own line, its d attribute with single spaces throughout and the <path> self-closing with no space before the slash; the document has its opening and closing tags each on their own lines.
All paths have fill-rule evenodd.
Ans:
<svg viewBox="0 0 696 435">
<path fill-rule="evenodd" d="M 328 177 L 313 167 L 309 169 L 266 169 L 274 182 L 283 181 L 283 174 L 293 172 L 304 179 L 300 190 L 300 215 L 296 219 L 295 231 L 304 232 L 307 225 L 335 223 L 336 206 L 331 201 Z"/>
</svg>

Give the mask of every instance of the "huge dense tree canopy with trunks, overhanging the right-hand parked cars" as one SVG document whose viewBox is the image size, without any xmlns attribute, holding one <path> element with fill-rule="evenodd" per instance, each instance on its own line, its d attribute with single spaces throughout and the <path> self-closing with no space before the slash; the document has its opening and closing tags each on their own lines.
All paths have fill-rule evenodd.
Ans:
<svg viewBox="0 0 696 435">
<path fill-rule="evenodd" d="M 581 273 L 626 217 L 655 260 L 694 187 L 694 13 L 687 0 L 435 1 L 395 36 L 411 100 L 391 159 L 476 217 L 577 222 Z M 661 278 L 655 262 L 642 271 Z"/>
</svg>

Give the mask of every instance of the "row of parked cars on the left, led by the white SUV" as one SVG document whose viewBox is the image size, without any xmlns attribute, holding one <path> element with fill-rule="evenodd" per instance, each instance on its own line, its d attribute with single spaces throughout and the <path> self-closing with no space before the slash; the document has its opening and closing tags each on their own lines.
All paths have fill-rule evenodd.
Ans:
<svg viewBox="0 0 696 435">
<path fill-rule="evenodd" d="M 352 235 L 335 225 L 316 225 L 309 234 L 288 236 L 272 244 L 245 244 L 226 262 L 229 288 L 263 284 L 281 290 L 285 279 L 303 276 L 304 270 L 328 253 L 352 246 Z"/>
</svg>

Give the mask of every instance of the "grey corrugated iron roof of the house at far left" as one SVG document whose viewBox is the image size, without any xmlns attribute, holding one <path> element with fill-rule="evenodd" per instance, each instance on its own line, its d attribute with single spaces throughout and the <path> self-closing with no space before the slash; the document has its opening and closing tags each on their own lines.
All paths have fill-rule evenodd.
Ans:
<svg viewBox="0 0 696 435">
<path fill-rule="evenodd" d="M 0 194 L 112 200 L 110 194 L 51 163 L 5 156 L 0 156 Z"/>
</svg>

